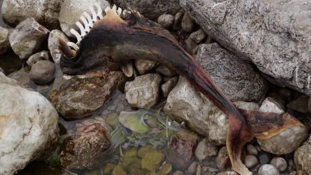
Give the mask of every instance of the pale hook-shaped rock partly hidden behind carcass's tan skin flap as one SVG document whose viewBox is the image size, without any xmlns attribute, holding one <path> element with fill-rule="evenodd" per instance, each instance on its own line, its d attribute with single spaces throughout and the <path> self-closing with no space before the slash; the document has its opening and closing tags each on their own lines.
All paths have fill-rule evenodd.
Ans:
<svg viewBox="0 0 311 175">
<path fill-rule="evenodd" d="M 67 36 L 64 33 L 62 33 L 62 31 L 57 30 L 57 29 L 52 30 L 51 33 L 49 34 L 48 48 L 50 50 L 50 53 L 51 53 L 51 56 L 52 56 L 54 62 L 59 62 L 61 52 L 57 48 L 58 47 L 58 39 L 56 38 L 55 35 L 60 36 L 65 42 L 69 42 L 70 40 L 67 38 Z"/>
</svg>

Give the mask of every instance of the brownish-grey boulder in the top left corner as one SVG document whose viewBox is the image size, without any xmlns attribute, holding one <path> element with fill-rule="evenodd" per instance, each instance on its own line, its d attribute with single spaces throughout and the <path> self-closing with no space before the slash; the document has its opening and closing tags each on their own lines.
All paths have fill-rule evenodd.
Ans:
<svg viewBox="0 0 311 175">
<path fill-rule="evenodd" d="M 4 0 L 1 12 L 4 21 L 18 25 L 28 17 L 34 17 L 48 29 L 59 28 L 58 15 L 64 0 Z"/>
</svg>

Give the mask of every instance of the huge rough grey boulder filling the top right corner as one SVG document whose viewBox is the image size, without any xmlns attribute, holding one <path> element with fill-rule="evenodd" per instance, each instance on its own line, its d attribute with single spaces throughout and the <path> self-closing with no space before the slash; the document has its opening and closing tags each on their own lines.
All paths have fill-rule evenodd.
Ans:
<svg viewBox="0 0 311 175">
<path fill-rule="evenodd" d="M 181 0 L 220 45 L 252 61 L 279 84 L 311 95 L 311 3 Z"/>
</svg>

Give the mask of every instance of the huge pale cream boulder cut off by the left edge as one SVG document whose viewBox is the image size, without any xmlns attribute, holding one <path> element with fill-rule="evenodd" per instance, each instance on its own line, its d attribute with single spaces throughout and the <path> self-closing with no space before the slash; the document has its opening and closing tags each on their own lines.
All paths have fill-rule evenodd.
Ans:
<svg viewBox="0 0 311 175">
<path fill-rule="evenodd" d="M 52 154 L 59 116 L 39 93 L 13 85 L 18 84 L 14 80 L 5 81 L 0 77 L 0 174 L 15 174 L 31 161 Z"/>
</svg>

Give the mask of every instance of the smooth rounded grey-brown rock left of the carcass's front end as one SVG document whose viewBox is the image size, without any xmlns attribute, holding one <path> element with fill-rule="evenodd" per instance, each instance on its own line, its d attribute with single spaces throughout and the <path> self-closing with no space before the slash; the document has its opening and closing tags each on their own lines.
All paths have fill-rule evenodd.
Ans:
<svg viewBox="0 0 311 175">
<path fill-rule="evenodd" d="M 32 66 L 29 77 L 35 83 L 48 83 L 54 79 L 54 74 L 54 63 L 47 60 L 40 60 Z"/>
</svg>

